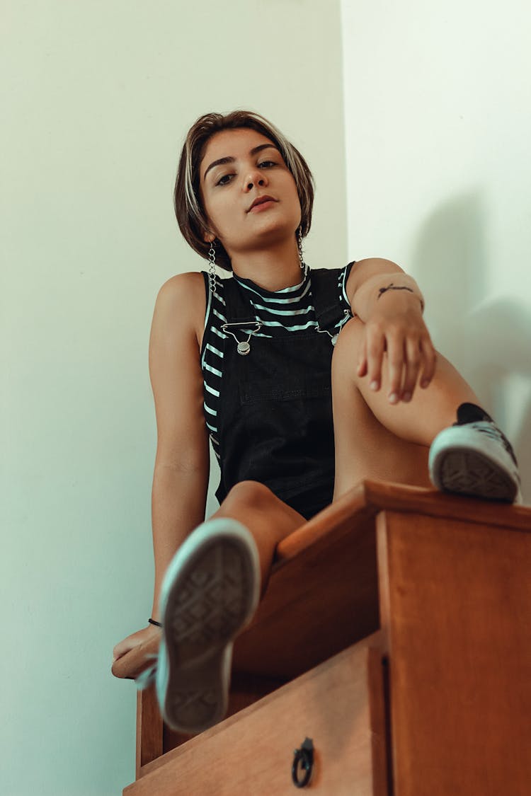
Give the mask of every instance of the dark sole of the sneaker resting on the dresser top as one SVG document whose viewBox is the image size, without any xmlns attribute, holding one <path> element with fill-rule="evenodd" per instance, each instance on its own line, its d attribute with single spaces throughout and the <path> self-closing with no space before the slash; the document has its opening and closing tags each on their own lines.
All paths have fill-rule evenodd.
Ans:
<svg viewBox="0 0 531 796">
<path fill-rule="evenodd" d="M 447 447 L 430 462 L 431 480 L 444 492 L 513 503 L 517 484 L 488 456 L 469 447 Z"/>
</svg>

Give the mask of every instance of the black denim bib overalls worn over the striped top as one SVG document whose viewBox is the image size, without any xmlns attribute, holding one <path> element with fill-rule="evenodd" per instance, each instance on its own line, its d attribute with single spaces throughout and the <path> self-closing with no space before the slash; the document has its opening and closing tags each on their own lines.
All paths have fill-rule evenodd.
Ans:
<svg viewBox="0 0 531 796">
<path fill-rule="evenodd" d="M 344 310 L 338 270 L 312 270 L 310 278 L 321 333 L 273 327 L 267 330 L 271 338 L 250 334 L 256 330 L 252 304 L 236 279 L 224 280 L 232 334 L 224 341 L 217 412 L 220 503 L 232 486 L 248 480 L 268 486 L 307 519 L 332 501 L 331 338 Z M 248 341 L 248 353 L 238 353 L 238 341 Z"/>
</svg>

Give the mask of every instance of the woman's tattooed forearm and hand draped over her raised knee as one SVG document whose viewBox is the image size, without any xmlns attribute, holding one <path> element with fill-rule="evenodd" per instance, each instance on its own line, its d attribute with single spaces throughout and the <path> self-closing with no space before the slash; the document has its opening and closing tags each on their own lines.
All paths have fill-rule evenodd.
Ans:
<svg viewBox="0 0 531 796">
<path fill-rule="evenodd" d="M 420 381 L 428 387 L 435 373 L 435 349 L 424 323 L 424 298 L 414 279 L 388 259 L 357 263 L 349 275 L 347 295 L 353 313 L 365 323 L 357 374 L 373 390 L 381 386 L 384 355 L 389 370 L 389 401 L 411 400 Z"/>
</svg>

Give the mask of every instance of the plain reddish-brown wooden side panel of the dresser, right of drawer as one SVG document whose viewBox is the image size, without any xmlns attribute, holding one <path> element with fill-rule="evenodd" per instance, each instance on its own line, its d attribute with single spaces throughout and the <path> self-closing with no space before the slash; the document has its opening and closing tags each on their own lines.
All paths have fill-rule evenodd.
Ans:
<svg viewBox="0 0 531 796">
<path fill-rule="evenodd" d="M 531 533 L 504 516 L 378 517 L 394 796 L 531 794 Z"/>
</svg>

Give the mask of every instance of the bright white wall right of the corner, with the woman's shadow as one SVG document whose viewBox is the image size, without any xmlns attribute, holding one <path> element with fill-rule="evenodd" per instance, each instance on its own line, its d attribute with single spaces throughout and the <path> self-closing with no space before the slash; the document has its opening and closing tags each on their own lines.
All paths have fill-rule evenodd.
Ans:
<svg viewBox="0 0 531 796">
<path fill-rule="evenodd" d="M 531 10 L 342 0 L 349 256 L 416 277 L 531 500 Z"/>
</svg>

